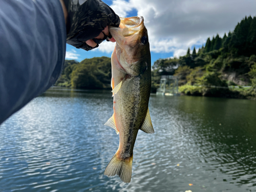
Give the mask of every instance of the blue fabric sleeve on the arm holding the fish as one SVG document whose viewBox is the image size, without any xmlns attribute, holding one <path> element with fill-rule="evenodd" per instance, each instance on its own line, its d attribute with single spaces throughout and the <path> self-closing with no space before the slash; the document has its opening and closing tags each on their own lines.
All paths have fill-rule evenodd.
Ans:
<svg viewBox="0 0 256 192">
<path fill-rule="evenodd" d="M 0 124 L 55 83 L 65 52 L 59 0 L 1 0 Z"/>
</svg>

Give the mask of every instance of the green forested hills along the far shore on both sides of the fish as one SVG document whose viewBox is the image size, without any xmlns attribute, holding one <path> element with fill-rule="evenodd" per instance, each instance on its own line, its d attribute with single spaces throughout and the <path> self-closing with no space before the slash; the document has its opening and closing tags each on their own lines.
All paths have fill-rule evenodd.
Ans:
<svg viewBox="0 0 256 192">
<path fill-rule="evenodd" d="M 256 17 L 245 17 L 223 37 L 209 37 L 198 52 L 188 48 L 180 58 L 157 60 L 152 67 L 152 92 L 159 87 L 161 75 L 178 76 L 179 90 L 187 95 L 256 99 Z M 55 85 L 111 89 L 110 82 L 111 59 L 95 57 L 66 60 Z"/>
</svg>

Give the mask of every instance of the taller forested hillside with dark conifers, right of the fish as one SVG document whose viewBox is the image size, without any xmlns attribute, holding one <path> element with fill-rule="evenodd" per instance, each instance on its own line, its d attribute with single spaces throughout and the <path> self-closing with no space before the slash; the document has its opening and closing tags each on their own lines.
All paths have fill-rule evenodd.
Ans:
<svg viewBox="0 0 256 192">
<path fill-rule="evenodd" d="M 188 49 L 185 56 L 159 59 L 153 65 L 153 89 L 161 75 L 179 76 L 180 91 L 187 95 L 255 98 L 256 17 L 245 17 L 233 32 L 208 38 L 198 52 Z M 222 88 L 213 88 L 214 86 Z M 228 88 L 229 89 L 224 89 Z"/>
</svg>

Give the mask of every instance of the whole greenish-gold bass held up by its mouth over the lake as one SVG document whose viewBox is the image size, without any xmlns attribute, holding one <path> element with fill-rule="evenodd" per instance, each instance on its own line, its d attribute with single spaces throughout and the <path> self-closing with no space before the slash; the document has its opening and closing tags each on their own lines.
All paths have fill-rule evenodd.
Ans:
<svg viewBox="0 0 256 192">
<path fill-rule="evenodd" d="M 119 28 L 109 29 L 116 40 L 111 56 L 114 113 L 105 123 L 119 134 L 119 147 L 106 166 L 104 175 L 118 175 L 123 182 L 130 183 L 138 131 L 155 133 L 148 110 L 151 54 L 144 18 L 120 19 Z"/>
</svg>

